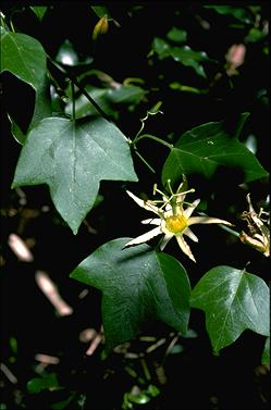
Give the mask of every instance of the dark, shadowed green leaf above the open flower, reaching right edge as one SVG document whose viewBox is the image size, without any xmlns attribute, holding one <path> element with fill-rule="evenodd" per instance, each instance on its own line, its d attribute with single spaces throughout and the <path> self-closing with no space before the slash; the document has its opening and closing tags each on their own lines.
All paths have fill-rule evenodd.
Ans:
<svg viewBox="0 0 271 410">
<path fill-rule="evenodd" d="M 182 174 L 202 174 L 211 178 L 219 166 L 242 170 L 245 183 L 268 176 L 257 158 L 238 141 L 248 117 L 243 113 L 231 129 L 225 122 L 211 122 L 184 133 L 165 160 L 163 184 L 182 179 Z"/>
</svg>

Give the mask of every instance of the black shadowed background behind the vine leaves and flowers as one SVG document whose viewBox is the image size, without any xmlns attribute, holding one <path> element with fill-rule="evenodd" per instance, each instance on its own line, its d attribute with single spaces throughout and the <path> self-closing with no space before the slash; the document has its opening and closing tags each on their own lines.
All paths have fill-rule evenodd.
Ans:
<svg viewBox="0 0 271 410">
<path fill-rule="evenodd" d="M 269 2 L 258 3 L 262 7 L 262 20 L 269 20 Z M 246 26 L 243 29 L 232 27 L 232 16 L 219 15 L 204 9 L 202 3 L 146 2 L 143 3 L 143 9 L 136 11 L 126 2 L 112 2 L 109 8 L 120 26 L 110 24 L 109 34 L 100 38 L 94 49 L 91 32 L 97 16 L 91 13 L 89 4 L 53 4 L 53 9 L 48 11 L 41 23 L 27 8 L 23 13 L 14 13 L 12 21 L 16 29 L 39 39 L 52 58 L 67 38 L 82 58 L 94 57 L 94 66 L 115 80 L 121 83 L 126 77 L 144 78 L 144 87 L 149 90 L 147 102 L 133 113 L 124 110 L 118 122 L 127 137 L 134 137 L 140 126 L 139 119 L 145 116 L 146 110 L 158 100 L 163 101 L 164 115 L 150 119 L 146 128 L 161 138 L 172 134 L 177 139 L 193 126 L 210 121 L 231 121 L 242 112 L 249 112 L 250 117 L 241 139 L 245 139 L 249 134 L 256 135 L 257 158 L 262 166 L 269 170 L 269 57 L 262 53 L 261 44 L 249 44 L 245 63 L 238 69 L 239 75 L 232 77 L 233 87 L 230 86 L 224 71 L 225 52 L 233 44 L 244 41 Z M 2 10 L 7 15 L 15 8 L 21 9 L 22 3 L 2 2 Z M 209 22 L 209 30 L 200 28 L 195 17 L 197 15 Z M 187 30 L 192 49 L 205 50 L 218 61 L 215 66 L 206 66 L 208 80 L 211 80 L 218 70 L 222 73 L 221 79 L 208 95 L 181 94 L 169 88 L 172 79 L 181 78 L 182 83 L 187 82 L 204 88 L 205 80 L 192 69 L 176 64 L 173 60 L 158 62 L 153 59 L 152 63 L 149 63 L 147 54 L 153 37 L 165 38 L 172 26 Z M 54 210 L 45 186 L 23 187 L 26 202 L 22 204 L 19 191 L 10 189 L 21 146 L 10 133 L 4 112 L 11 112 L 22 129 L 26 131 L 32 119 L 35 95 L 26 84 L 9 73 L 1 75 L 1 361 L 9 363 L 10 358 L 15 356 L 15 361 L 10 362 L 9 366 L 19 381 L 13 385 L 2 377 L 0 401 L 7 405 L 2 408 L 46 409 L 75 390 L 76 397 L 81 394 L 86 397 L 86 409 L 120 409 L 123 394 L 131 389 L 134 383 L 124 370 L 128 360 L 124 355 L 113 352 L 102 361 L 102 345 L 93 357 L 85 356 L 86 345 L 78 341 L 78 333 L 86 327 L 99 330 L 101 296 L 96 289 L 90 289 L 87 297 L 81 300 L 78 295 L 85 286 L 69 278 L 69 274 L 106 241 L 138 235 L 138 221 L 144 218 L 144 212 L 136 211 L 134 203 L 126 198 L 123 189 L 126 185 L 120 189 L 119 183 L 111 182 L 101 183 L 100 194 L 104 200 L 87 216 L 87 222 L 97 229 L 97 234 L 90 234 L 83 224 L 78 235 L 74 236 Z M 260 90 L 267 90 L 263 98 L 259 98 Z M 160 146 L 155 146 L 153 149 L 152 142 L 143 142 L 141 153 L 147 156 L 153 167 L 161 169 L 168 151 Z M 159 175 L 152 175 L 136 161 L 135 166 L 140 181 L 137 189 L 150 195 L 152 184 L 158 182 Z M 202 182 L 199 197 L 208 198 L 213 190 L 217 192 L 211 206 L 214 211 L 219 209 L 222 216 L 235 204 L 236 213 L 241 213 L 246 209 L 244 190 L 236 185 L 232 174 L 223 177 L 222 186 L 221 179 L 213 178 L 209 186 Z M 268 192 L 268 183 L 250 183 L 247 189 L 251 191 L 255 201 L 261 203 Z M 16 211 L 15 215 L 11 210 Z M 27 213 L 26 210 L 30 212 Z M 241 224 L 241 221 L 235 222 Z M 35 259 L 32 263 L 19 261 L 8 246 L 9 235 L 19 233 L 20 229 L 23 239 L 34 239 L 32 251 Z M 261 254 L 230 238 L 221 246 L 225 241 L 225 234 L 215 227 L 199 227 L 195 233 L 200 236 L 200 246 L 195 245 L 195 256 L 200 264 L 195 266 L 188 259 L 184 262 L 193 286 L 210 268 L 226 263 L 243 269 L 250 262 L 248 272 L 268 281 L 269 265 Z M 174 244 L 169 244 L 168 253 L 178 258 L 177 251 Z M 60 294 L 74 308 L 71 316 L 56 315 L 53 307 L 36 286 L 36 270 L 45 270 L 57 283 Z M 264 374 L 267 369 L 260 366 L 264 338 L 246 331 L 235 344 L 223 349 L 220 357 L 214 357 L 201 312 L 192 312 L 190 327 L 198 337 L 183 339 L 184 352 L 170 356 L 163 363 L 168 377 L 164 385 L 159 385 L 153 371 L 153 363 L 163 360 L 164 348 L 148 356 L 152 382 L 161 387 L 162 394 L 141 408 L 269 408 L 269 376 Z M 147 334 L 158 338 L 168 337 L 170 332 L 172 330 L 163 324 L 150 325 L 146 330 Z M 16 353 L 11 351 L 11 336 L 17 340 Z M 130 348 L 139 351 L 146 349 L 138 339 L 133 340 Z M 61 356 L 60 364 L 49 370 L 58 373 L 60 384 L 64 386 L 63 390 L 46 390 L 33 396 L 27 393 L 27 381 L 36 376 L 34 357 L 37 352 Z M 69 408 L 81 408 L 75 402 L 70 406 L 73 407 Z"/>
</svg>

